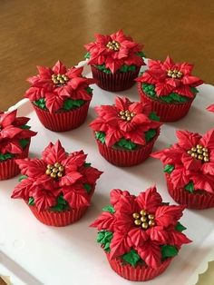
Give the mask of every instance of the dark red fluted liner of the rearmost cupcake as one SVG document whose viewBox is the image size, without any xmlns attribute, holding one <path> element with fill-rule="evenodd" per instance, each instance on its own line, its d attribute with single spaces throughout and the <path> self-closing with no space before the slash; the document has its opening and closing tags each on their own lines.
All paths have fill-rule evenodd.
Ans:
<svg viewBox="0 0 214 285">
<path fill-rule="evenodd" d="M 97 82 L 96 84 L 107 91 L 122 91 L 131 88 L 135 84 L 134 79 L 138 77 L 140 67 L 136 67 L 134 72 L 116 72 L 115 74 L 106 74 L 95 66 L 92 67 L 92 77 Z"/>
</svg>

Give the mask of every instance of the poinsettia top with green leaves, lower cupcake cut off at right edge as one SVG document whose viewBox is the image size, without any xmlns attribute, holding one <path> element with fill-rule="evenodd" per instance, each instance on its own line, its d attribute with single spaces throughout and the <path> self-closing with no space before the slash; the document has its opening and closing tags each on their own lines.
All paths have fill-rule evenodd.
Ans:
<svg viewBox="0 0 214 285">
<path fill-rule="evenodd" d="M 174 187 L 190 193 L 214 193 L 214 129 L 203 136 L 176 132 L 179 142 L 151 156 L 160 159 Z"/>
</svg>

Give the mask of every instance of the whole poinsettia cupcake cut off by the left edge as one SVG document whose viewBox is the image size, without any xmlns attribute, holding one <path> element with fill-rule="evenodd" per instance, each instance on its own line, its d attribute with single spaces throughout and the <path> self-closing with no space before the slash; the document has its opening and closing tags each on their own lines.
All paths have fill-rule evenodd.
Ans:
<svg viewBox="0 0 214 285">
<path fill-rule="evenodd" d="M 16 117 L 17 110 L 0 113 L 0 180 L 14 177 L 20 171 L 15 159 L 28 156 L 31 137 L 26 117 Z"/>
</svg>

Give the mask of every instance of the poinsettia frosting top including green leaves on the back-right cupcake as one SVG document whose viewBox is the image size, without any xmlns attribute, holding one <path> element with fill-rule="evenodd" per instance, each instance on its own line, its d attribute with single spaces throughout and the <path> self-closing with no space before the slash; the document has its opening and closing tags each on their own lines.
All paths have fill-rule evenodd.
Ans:
<svg viewBox="0 0 214 285">
<path fill-rule="evenodd" d="M 203 81 L 191 74 L 193 64 L 175 64 L 168 56 L 165 62 L 149 60 L 149 68 L 136 81 L 144 93 L 165 103 L 183 103 L 194 98 L 195 88 Z"/>
</svg>

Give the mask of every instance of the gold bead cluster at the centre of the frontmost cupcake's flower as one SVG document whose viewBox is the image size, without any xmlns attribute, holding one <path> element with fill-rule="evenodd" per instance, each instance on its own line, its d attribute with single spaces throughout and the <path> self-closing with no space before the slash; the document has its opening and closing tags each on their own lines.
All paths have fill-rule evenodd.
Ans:
<svg viewBox="0 0 214 285">
<path fill-rule="evenodd" d="M 155 225 L 154 215 L 145 210 L 141 210 L 140 213 L 134 212 L 132 217 L 134 218 L 134 224 L 136 226 L 141 226 L 143 230 L 147 230 L 149 227 Z"/>
</svg>

